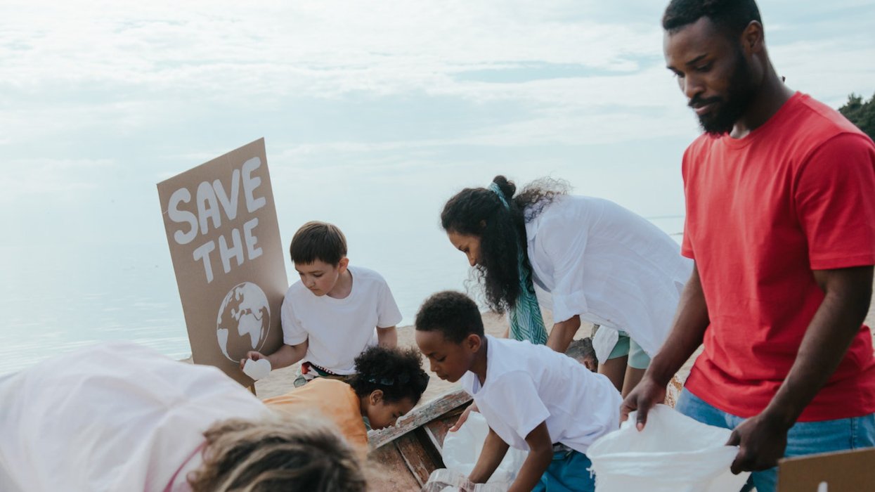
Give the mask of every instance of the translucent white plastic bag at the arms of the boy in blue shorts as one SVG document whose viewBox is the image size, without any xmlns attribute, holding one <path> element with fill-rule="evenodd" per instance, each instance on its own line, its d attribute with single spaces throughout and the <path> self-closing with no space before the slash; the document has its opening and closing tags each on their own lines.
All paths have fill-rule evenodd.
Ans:
<svg viewBox="0 0 875 492">
<path fill-rule="evenodd" d="M 480 451 L 483 450 L 483 441 L 486 440 L 486 434 L 489 433 L 489 425 L 486 425 L 486 418 L 483 414 L 472 411 L 468 413 L 468 419 L 465 424 L 456 432 L 447 432 L 444 438 L 444 465 L 447 469 L 468 476 L 477 464 L 477 459 L 480 456 Z M 516 478 L 522 467 L 522 462 L 526 460 L 528 452 L 511 447 L 507 450 L 504 460 L 501 461 L 498 468 L 495 469 L 492 477 L 487 483 L 493 481 L 512 482 Z"/>
</svg>

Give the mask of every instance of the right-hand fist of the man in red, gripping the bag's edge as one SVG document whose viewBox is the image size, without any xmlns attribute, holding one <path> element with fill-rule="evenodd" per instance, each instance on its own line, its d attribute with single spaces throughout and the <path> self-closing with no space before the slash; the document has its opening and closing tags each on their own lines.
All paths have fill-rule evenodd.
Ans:
<svg viewBox="0 0 875 492">
<path fill-rule="evenodd" d="M 726 446 L 739 446 L 739 454 L 730 467 L 732 473 L 777 467 L 787 448 L 788 431 L 781 422 L 768 418 L 765 413 L 742 422 L 726 442 Z"/>
</svg>

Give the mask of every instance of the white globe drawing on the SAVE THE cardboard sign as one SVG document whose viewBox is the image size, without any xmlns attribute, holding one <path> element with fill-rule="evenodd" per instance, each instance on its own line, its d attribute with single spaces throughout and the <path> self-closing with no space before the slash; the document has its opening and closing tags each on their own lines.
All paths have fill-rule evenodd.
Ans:
<svg viewBox="0 0 875 492">
<path fill-rule="evenodd" d="M 221 301 L 216 338 L 228 360 L 240 362 L 249 350 L 260 350 L 268 338 L 270 305 L 261 287 L 251 282 L 235 285 Z"/>
</svg>

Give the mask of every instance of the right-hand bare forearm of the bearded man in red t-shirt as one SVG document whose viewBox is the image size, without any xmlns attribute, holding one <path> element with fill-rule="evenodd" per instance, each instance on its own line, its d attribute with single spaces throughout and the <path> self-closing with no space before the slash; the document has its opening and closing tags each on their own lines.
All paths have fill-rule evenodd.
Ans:
<svg viewBox="0 0 875 492">
<path fill-rule="evenodd" d="M 823 302 L 802 337 L 796 360 L 763 414 L 789 428 L 830 380 L 865 320 L 872 267 L 816 271 Z"/>
</svg>

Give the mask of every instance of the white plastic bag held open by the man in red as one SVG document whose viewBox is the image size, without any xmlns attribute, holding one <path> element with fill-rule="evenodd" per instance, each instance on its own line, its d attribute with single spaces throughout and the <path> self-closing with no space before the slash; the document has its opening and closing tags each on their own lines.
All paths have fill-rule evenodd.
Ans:
<svg viewBox="0 0 875 492">
<path fill-rule="evenodd" d="M 636 413 L 586 451 L 597 492 L 738 492 L 744 486 L 749 473 L 729 471 L 739 448 L 725 446 L 732 433 L 728 429 L 659 404 L 638 432 Z"/>
</svg>

